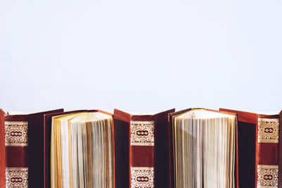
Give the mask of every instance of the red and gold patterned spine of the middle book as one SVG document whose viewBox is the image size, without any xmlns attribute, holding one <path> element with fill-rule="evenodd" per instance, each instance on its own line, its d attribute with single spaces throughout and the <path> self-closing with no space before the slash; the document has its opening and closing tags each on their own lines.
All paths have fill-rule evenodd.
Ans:
<svg viewBox="0 0 282 188">
<path fill-rule="evenodd" d="M 154 186 L 154 121 L 130 121 L 130 188 Z"/>
</svg>

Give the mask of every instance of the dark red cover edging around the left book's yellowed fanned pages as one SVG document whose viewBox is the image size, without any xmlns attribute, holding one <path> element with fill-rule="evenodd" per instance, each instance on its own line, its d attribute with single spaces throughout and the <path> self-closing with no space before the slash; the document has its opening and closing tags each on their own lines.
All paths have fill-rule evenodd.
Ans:
<svg viewBox="0 0 282 188">
<path fill-rule="evenodd" d="M 51 187 L 51 172 L 50 172 L 51 158 L 50 156 L 51 156 L 51 120 L 52 120 L 52 117 L 56 115 L 63 115 L 63 114 L 68 114 L 68 113 L 82 113 L 82 112 L 99 112 L 99 113 L 104 113 L 106 115 L 111 115 L 113 117 L 113 123 L 114 123 L 113 114 L 105 112 L 105 111 L 100 111 L 100 110 L 78 110 L 78 111 L 67 111 L 67 112 L 59 112 L 59 113 L 48 113 L 44 115 L 44 188 Z M 113 132 L 114 132 L 114 124 L 113 124 Z M 114 142 L 114 148 L 115 148 L 115 142 Z M 114 157 L 115 157 L 115 154 L 114 154 Z M 115 166 L 115 159 L 114 159 L 114 166 Z M 114 173 L 114 175 L 115 175 L 114 179 L 116 180 L 116 173 Z"/>
</svg>

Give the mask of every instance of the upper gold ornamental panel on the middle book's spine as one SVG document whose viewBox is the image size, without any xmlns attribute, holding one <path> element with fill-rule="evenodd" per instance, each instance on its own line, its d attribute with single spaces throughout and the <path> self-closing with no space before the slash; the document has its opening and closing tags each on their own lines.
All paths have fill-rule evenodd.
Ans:
<svg viewBox="0 0 282 188">
<path fill-rule="evenodd" d="M 130 145 L 154 146 L 154 121 L 131 121 Z"/>
</svg>

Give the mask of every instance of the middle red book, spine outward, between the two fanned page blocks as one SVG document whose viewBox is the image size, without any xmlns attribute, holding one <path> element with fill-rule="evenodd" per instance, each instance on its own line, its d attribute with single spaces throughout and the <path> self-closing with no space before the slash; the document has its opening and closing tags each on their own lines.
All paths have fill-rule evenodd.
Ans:
<svg viewBox="0 0 282 188">
<path fill-rule="evenodd" d="M 116 188 L 169 187 L 168 113 L 114 109 Z"/>
</svg>

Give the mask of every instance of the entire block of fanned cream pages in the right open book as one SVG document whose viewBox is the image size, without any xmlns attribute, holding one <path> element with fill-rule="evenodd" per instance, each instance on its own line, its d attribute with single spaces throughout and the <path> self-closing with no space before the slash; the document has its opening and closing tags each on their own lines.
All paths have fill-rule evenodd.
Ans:
<svg viewBox="0 0 282 188">
<path fill-rule="evenodd" d="M 173 117 L 176 188 L 235 187 L 235 115 L 191 110 Z"/>
</svg>

